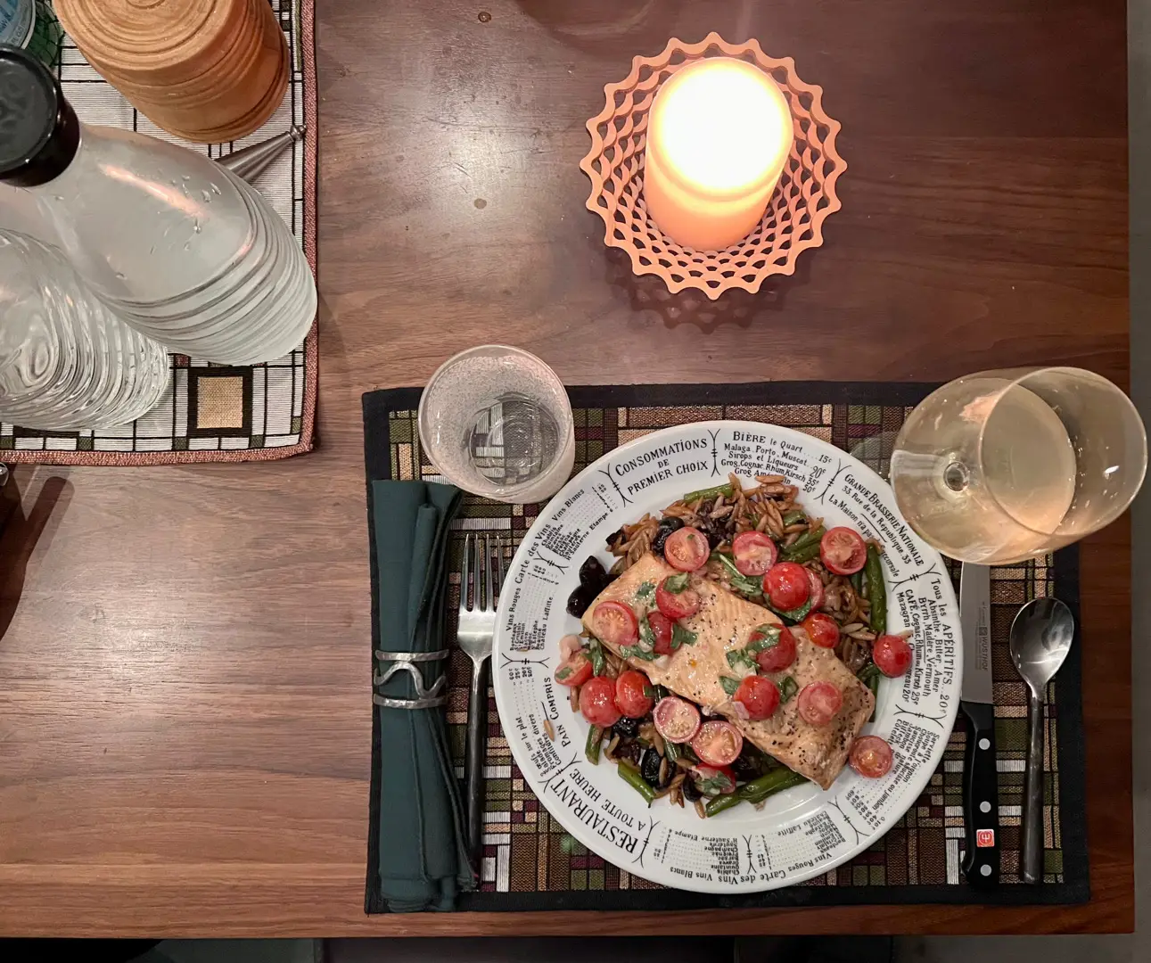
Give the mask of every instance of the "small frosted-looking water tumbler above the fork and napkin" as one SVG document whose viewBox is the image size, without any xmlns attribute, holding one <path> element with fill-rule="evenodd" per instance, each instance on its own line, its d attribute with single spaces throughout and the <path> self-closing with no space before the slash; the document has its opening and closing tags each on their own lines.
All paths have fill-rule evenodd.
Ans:
<svg viewBox="0 0 1151 963">
<path fill-rule="evenodd" d="M 563 382 L 518 347 L 486 344 L 444 361 L 424 389 L 419 426 L 448 481 L 498 502 L 550 498 L 576 461 Z"/>
</svg>

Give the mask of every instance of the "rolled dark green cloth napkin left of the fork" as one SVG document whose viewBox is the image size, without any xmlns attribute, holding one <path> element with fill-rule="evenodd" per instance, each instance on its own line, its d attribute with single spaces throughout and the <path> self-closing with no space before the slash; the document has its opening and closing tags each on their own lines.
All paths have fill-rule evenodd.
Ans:
<svg viewBox="0 0 1151 963">
<path fill-rule="evenodd" d="M 379 586 L 380 649 L 447 649 L 444 599 L 451 519 L 458 488 L 414 481 L 372 482 L 372 526 Z M 379 663 L 387 670 L 391 663 Z M 416 663 L 425 687 L 447 660 Z M 380 695 L 414 698 L 414 680 L 397 672 Z M 451 910 L 472 889 L 463 810 L 448 746 L 443 706 L 375 708 L 380 717 L 380 884 L 392 912 Z"/>
</svg>

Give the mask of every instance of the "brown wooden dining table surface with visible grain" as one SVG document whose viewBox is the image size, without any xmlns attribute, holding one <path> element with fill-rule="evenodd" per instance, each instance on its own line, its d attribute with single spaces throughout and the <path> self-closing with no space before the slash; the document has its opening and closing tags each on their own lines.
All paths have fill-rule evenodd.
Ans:
<svg viewBox="0 0 1151 963">
<path fill-rule="evenodd" d="M 794 278 L 701 309 L 653 300 L 608 258 L 577 162 L 603 84 L 710 29 L 793 55 L 843 122 L 849 166 L 844 208 Z M 1122 0 L 320 0 L 319 46 L 319 450 L 16 472 L 0 541 L 0 932 L 1130 930 L 1126 521 L 1083 550 L 1089 905 L 361 909 L 360 392 L 422 383 L 494 339 L 572 383 L 1058 361 L 1126 384 Z"/>
</svg>

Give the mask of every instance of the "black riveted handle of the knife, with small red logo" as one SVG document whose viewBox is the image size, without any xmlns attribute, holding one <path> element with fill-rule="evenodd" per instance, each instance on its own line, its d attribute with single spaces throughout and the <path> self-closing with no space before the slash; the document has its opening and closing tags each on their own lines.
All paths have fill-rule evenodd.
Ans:
<svg viewBox="0 0 1151 963">
<path fill-rule="evenodd" d="M 965 702 L 963 711 L 971 720 L 963 756 L 963 825 L 967 828 L 963 876 L 973 886 L 985 886 L 999 881 L 996 709 L 983 702 Z"/>
</svg>

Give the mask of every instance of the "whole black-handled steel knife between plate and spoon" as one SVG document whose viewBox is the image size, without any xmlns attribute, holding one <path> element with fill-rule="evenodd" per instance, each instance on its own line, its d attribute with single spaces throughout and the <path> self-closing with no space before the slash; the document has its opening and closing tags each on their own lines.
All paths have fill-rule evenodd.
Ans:
<svg viewBox="0 0 1151 963">
<path fill-rule="evenodd" d="M 963 630 L 960 706 L 971 725 L 963 757 L 963 874 L 975 886 L 999 880 L 999 792 L 996 775 L 996 706 L 991 687 L 991 570 L 965 564 L 959 576 Z"/>
</svg>

